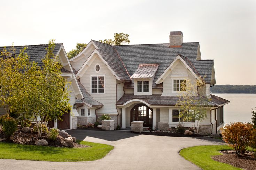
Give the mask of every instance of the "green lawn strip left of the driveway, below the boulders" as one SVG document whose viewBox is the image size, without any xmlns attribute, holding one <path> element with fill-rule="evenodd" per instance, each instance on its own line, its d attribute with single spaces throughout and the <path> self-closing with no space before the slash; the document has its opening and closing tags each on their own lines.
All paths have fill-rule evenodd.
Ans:
<svg viewBox="0 0 256 170">
<path fill-rule="evenodd" d="M 91 147 L 62 148 L 0 142 L 0 158 L 54 162 L 94 161 L 103 158 L 114 148 L 114 146 L 99 143 L 86 141 L 77 142 Z"/>
</svg>

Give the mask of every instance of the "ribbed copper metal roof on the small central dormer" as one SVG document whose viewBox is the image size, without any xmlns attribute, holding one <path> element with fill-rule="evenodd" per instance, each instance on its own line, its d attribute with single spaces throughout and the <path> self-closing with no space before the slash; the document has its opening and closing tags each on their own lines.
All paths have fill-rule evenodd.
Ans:
<svg viewBox="0 0 256 170">
<path fill-rule="evenodd" d="M 159 64 L 140 64 L 131 78 L 152 78 Z"/>
</svg>

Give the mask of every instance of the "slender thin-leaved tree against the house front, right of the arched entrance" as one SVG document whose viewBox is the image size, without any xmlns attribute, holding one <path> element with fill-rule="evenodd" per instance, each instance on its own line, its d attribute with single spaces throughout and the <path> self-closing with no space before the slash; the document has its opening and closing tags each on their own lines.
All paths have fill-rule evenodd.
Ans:
<svg viewBox="0 0 256 170">
<path fill-rule="evenodd" d="M 197 94 L 197 87 L 204 86 L 203 79 L 192 83 L 187 79 L 181 83 L 179 100 L 176 106 L 180 107 L 179 117 L 183 122 L 190 122 L 194 132 L 197 134 L 199 122 L 206 119 L 205 99 Z"/>
</svg>

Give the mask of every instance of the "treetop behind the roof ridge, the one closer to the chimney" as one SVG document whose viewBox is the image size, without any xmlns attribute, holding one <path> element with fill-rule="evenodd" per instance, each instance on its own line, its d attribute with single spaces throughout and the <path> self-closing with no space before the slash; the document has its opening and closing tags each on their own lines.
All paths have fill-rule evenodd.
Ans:
<svg viewBox="0 0 256 170">
<path fill-rule="evenodd" d="M 125 43 L 130 43 L 129 35 L 124 33 L 115 33 L 114 40 L 112 39 L 105 39 L 104 41 L 99 40 L 100 42 L 109 44 L 109 45 L 124 45 Z"/>
</svg>

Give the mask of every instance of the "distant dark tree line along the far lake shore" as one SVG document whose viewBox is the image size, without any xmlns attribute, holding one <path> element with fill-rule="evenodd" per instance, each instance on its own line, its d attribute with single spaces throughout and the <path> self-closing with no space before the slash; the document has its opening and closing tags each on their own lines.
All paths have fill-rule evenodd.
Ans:
<svg viewBox="0 0 256 170">
<path fill-rule="evenodd" d="M 214 85 L 211 93 L 256 93 L 256 85 Z"/>
</svg>

